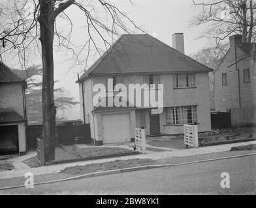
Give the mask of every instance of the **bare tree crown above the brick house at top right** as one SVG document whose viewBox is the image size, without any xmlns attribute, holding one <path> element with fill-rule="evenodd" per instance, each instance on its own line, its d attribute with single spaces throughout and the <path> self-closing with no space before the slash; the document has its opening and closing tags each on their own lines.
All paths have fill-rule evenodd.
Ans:
<svg viewBox="0 0 256 208">
<path fill-rule="evenodd" d="M 191 25 L 208 27 L 202 37 L 214 38 L 217 44 L 231 34 L 242 34 L 244 43 L 255 40 L 255 0 L 193 0 L 193 5 L 201 6 L 202 12 Z"/>
</svg>

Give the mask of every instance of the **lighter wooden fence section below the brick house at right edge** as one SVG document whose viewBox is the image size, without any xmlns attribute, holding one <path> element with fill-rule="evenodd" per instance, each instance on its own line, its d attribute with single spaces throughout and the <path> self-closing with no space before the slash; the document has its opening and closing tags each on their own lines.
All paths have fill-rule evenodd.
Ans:
<svg viewBox="0 0 256 208">
<path fill-rule="evenodd" d="M 256 125 L 256 107 L 244 107 L 231 109 L 232 127 Z"/>
</svg>

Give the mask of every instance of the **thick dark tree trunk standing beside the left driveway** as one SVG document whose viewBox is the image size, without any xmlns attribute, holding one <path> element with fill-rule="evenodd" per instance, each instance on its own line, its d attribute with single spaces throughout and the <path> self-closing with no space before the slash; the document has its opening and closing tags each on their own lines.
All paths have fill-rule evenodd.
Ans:
<svg viewBox="0 0 256 208">
<path fill-rule="evenodd" d="M 44 157 L 50 163 L 55 159 L 55 118 L 54 105 L 54 16 L 52 1 L 40 1 L 40 42 L 42 45 L 42 137 Z"/>
</svg>

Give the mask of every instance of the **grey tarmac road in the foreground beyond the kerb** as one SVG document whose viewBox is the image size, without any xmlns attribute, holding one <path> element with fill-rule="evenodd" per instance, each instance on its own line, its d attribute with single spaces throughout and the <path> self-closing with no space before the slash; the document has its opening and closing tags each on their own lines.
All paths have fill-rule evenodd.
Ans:
<svg viewBox="0 0 256 208">
<path fill-rule="evenodd" d="M 221 174 L 230 188 L 221 188 Z M 256 156 L 15 188 L 0 194 L 256 194 Z"/>
</svg>

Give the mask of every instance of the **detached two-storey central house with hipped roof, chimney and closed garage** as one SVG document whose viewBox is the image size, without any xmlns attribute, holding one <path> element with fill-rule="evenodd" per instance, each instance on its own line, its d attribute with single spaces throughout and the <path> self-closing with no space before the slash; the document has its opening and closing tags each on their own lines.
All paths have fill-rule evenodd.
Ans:
<svg viewBox="0 0 256 208">
<path fill-rule="evenodd" d="M 146 135 L 176 135 L 183 133 L 184 123 L 199 123 L 199 131 L 210 131 L 210 86 L 208 73 L 212 70 L 184 54 L 184 35 L 172 36 L 173 47 L 149 34 L 122 35 L 81 77 L 81 119 L 90 123 L 95 145 L 131 142 L 135 127 L 145 127 Z M 112 79 L 113 88 L 108 88 Z M 148 84 L 143 91 L 156 91 L 152 84 L 163 84 L 163 110 L 150 105 L 109 107 L 101 105 L 111 96 L 125 92 L 117 84 Z M 106 86 L 106 101 L 93 98 L 97 84 Z M 126 92 L 125 92 L 126 93 Z M 130 96 L 130 94 L 129 94 Z M 127 96 L 127 97 L 129 97 Z M 132 94 L 132 97 L 135 95 Z M 129 97 L 130 98 L 130 97 Z M 144 102 L 144 94 L 140 96 Z M 137 100 L 136 100 L 137 102 Z"/>
</svg>

